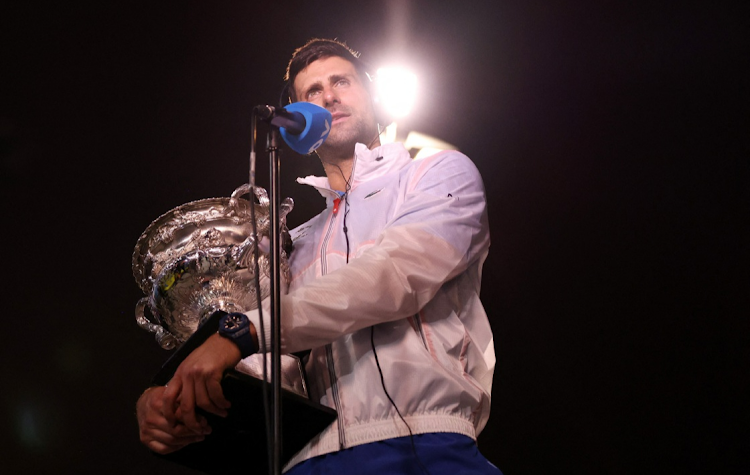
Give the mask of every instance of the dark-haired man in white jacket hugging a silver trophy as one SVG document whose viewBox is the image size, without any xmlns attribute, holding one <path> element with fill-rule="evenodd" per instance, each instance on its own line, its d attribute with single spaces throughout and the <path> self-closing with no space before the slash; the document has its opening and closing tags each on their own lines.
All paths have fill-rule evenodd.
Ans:
<svg viewBox="0 0 750 475">
<path fill-rule="evenodd" d="M 475 444 L 495 364 L 479 301 L 489 247 L 479 173 L 455 151 L 413 161 L 400 144 L 381 146 L 369 78 L 342 43 L 312 40 L 295 51 L 287 88 L 333 122 L 317 151 L 326 177 L 298 180 L 327 207 L 292 231 L 282 350 L 311 350 L 311 398 L 338 412 L 288 473 L 500 473 Z M 257 311 L 247 317 L 249 342 L 213 335 L 168 387 L 141 396 L 150 449 L 202 440 L 210 428 L 195 406 L 226 415 L 223 371 L 257 349 L 259 336 L 270 347 Z"/>
</svg>

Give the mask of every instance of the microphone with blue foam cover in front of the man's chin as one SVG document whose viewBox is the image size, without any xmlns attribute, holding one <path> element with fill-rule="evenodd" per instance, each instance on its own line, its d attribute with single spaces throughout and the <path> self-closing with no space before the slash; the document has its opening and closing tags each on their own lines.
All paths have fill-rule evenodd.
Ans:
<svg viewBox="0 0 750 475">
<path fill-rule="evenodd" d="M 310 102 L 294 102 L 281 108 L 260 107 L 260 117 L 279 128 L 284 142 L 307 155 L 320 147 L 331 132 L 331 113 Z"/>
</svg>

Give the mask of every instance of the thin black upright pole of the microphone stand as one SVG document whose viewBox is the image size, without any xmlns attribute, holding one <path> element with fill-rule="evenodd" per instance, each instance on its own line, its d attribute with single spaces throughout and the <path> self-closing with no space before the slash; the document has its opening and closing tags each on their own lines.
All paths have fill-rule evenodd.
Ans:
<svg viewBox="0 0 750 475">
<path fill-rule="evenodd" d="M 280 151 L 278 127 L 269 127 L 266 142 L 270 167 L 270 220 L 271 220 L 271 388 L 273 455 L 270 467 L 272 475 L 281 475 L 281 223 L 280 198 Z"/>
</svg>

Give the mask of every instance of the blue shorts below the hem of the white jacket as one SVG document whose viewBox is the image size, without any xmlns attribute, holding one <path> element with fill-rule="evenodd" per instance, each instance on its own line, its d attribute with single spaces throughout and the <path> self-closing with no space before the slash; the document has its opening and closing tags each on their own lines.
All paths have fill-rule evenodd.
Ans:
<svg viewBox="0 0 750 475">
<path fill-rule="evenodd" d="M 286 475 L 349 474 L 383 475 L 502 475 L 479 453 L 469 437 L 452 433 L 414 436 L 414 455 L 410 437 L 381 440 L 357 445 L 301 462 Z M 425 470 L 420 466 L 423 465 Z"/>
</svg>

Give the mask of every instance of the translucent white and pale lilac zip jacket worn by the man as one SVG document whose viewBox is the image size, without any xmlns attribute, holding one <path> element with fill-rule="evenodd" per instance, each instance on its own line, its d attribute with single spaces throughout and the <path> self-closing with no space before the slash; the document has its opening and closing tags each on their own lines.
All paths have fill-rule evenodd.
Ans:
<svg viewBox="0 0 750 475">
<path fill-rule="evenodd" d="M 297 181 L 316 187 L 327 206 L 292 231 L 282 350 L 312 348 L 311 399 L 335 408 L 338 420 L 287 468 L 409 435 L 383 391 L 373 325 L 385 388 L 412 432 L 476 438 L 489 417 L 495 352 L 479 301 L 490 239 L 474 164 L 455 151 L 413 161 L 401 144 L 357 144 L 348 207 L 327 178 Z M 248 315 L 258 328 L 257 311 Z"/>
</svg>

